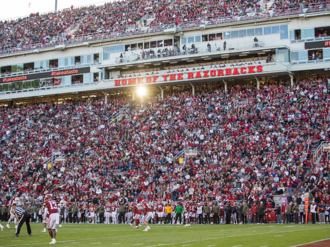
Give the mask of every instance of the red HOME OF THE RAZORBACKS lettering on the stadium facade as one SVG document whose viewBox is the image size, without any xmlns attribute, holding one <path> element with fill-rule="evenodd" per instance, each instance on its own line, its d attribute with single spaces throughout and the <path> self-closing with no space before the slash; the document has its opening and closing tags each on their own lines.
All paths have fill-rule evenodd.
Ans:
<svg viewBox="0 0 330 247">
<path fill-rule="evenodd" d="M 226 68 L 226 69 L 213 69 L 213 70 L 199 70 L 196 72 L 187 73 L 175 73 L 175 74 L 165 74 L 165 75 L 152 75 L 147 77 L 137 77 L 137 78 L 125 78 L 114 80 L 115 86 L 125 86 L 133 84 L 144 84 L 152 82 L 164 82 L 164 81 L 175 81 L 183 79 L 196 79 L 196 78 L 206 78 L 215 76 L 226 76 L 226 75 L 239 75 L 239 74 L 250 74 L 262 72 L 262 65 L 258 66 L 246 66 L 239 68 Z"/>
</svg>

